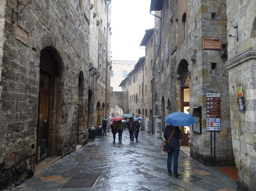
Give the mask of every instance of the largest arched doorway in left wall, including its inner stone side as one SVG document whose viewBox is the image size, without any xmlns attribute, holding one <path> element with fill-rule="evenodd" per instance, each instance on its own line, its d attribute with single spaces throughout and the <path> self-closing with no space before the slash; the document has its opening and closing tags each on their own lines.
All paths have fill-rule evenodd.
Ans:
<svg viewBox="0 0 256 191">
<path fill-rule="evenodd" d="M 41 50 L 39 68 L 36 163 L 53 156 L 54 153 L 62 154 L 62 148 L 55 150 L 54 140 L 60 136 L 59 131 L 55 130 L 58 124 L 62 123 L 58 123 L 58 120 L 62 119 L 62 107 L 57 107 L 56 103 L 62 102 L 64 97 L 63 62 L 54 47 L 49 46 Z"/>
</svg>

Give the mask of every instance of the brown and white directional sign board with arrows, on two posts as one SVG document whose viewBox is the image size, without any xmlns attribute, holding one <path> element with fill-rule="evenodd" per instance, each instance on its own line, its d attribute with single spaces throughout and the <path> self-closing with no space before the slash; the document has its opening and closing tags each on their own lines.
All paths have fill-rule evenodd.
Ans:
<svg viewBox="0 0 256 191">
<path fill-rule="evenodd" d="M 206 130 L 220 131 L 220 93 L 206 93 Z"/>
</svg>

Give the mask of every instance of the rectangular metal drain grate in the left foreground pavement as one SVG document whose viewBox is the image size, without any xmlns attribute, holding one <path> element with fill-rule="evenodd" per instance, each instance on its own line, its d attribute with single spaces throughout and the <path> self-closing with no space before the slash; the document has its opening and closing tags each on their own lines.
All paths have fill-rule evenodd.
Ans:
<svg viewBox="0 0 256 191">
<path fill-rule="evenodd" d="M 77 173 L 61 188 L 91 188 L 100 173 Z"/>
</svg>

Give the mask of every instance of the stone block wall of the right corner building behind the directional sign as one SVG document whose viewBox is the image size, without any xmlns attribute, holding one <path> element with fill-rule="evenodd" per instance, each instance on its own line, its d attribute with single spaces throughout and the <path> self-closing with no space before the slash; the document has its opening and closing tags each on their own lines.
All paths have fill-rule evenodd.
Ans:
<svg viewBox="0 0 256 191">
<path fill-rule="evenodd" d="M 190 131 L 191 157 L 205 165 L 210 165 L 210 132 L 206 131 L 206 93 L 221 93 L 221 131 L 216 132 L 217 165 L 234 164 L 230 127 L 228 72 L 226 39 L 226 3 L 225 1 L 179 1 L 169 3 L 169 11 L 163 10 L 163 30 L 161 41 L 154 47 L 154 57 L 158 50 L 158 76 L 153 76 L 154 108 L 153 115 L 161 116 L 181 111 L 180 71 L 182 63 L 189 64 L 189 106 L 202 108 L 202 134 Z M 187 6 L 187 9 L 184 8 Z M 187 11 L 186 11 L 187 10 Z M 161 11 L 155 11 L 159 16 Z M 186 13 L 187 36 L 182 39 L 182 16 Z M 169 19 L 173 17 L 173 20 Z M 155 29 L 160 28 L 156 18 Z M 184 23 L 183 23 L 184 24 Z M 171 34 L 170 34 L 171 33 Z M 184 35 L 184 34 L 183 34 Z M 220 50 L 203 49 L 203 39 L 218 39 Z M 166 43 L 169 43 L 169 62 L 166 64 Z M 159 49 L 158 49 L 158 45 Z M 178 45 L 178 46 L 176 46 Z M 161 55 L 164 64 L 161 70 Z M 192 59 L 195 58 L 195 59 Z M 193 60 L 193 61 L 192 61 Z M 154 68 L 155 70 L 156 68 Z M 155 72 L 154 72 L 155 73 Z M 164 105 L 164 107 L 163 107 Z M 154 124 L 154 122 L 153 122 Z M 164 128 L 163 124 L 163 128 Z M 162 128 L 162 129 L 163 129 Z"/>
</svg>

